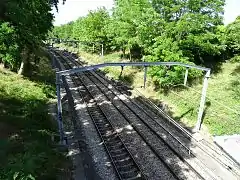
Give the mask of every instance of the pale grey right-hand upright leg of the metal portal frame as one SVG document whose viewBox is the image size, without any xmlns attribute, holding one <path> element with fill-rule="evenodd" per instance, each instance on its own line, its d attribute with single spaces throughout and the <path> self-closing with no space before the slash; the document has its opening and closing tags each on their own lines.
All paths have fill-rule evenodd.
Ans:
<svg viewBox="0 0 240 180">
<path fill-rule="evenodd" d="M 202 96 L 201 96 L 201 101 L 200 101 L 200 106 L 199 106 L 199 111 L 198 111 L 198 119 L 197 119 L 197 123 L 195 126 L 196 131 L 199 131 L 201 129 L 201 125 L 202 125 L 202 120 L 203 120 L 202 116 L 203 116 L 203 112 L 204 112 L 204 105 L 205 105 L 205 100 L 206 100 L 209 78 L 210 78 L 210 70 L 208 70 L 206 72 L 206 75 L 205 75 L 204 81 L 203 81 Z"/>
</svg>

